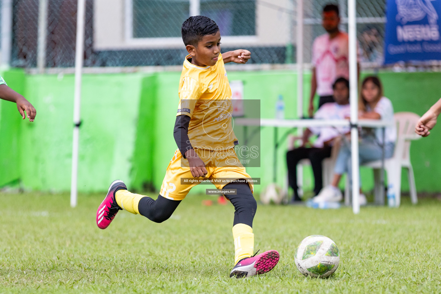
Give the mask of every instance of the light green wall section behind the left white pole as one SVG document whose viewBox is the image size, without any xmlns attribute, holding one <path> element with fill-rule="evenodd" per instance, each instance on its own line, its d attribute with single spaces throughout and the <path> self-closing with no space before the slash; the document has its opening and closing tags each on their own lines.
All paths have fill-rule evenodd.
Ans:
<svg viewBox="0 0 441 294">
<path fill-rule="evenodd" d="M 78 190 L 103 191 L 114 179 L 130 179 L 143 78 L 83 76 Z M 37 117 L 34 123 L 22 124 L 22 185 L 69 190 L 74 76 L 28 75 L 25 93 Z"/>
</svg>

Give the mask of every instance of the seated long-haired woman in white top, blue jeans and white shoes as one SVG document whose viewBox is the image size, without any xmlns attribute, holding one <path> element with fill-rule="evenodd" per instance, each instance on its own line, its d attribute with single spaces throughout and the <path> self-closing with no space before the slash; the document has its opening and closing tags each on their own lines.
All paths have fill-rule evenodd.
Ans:
<svg viewBox="0 0 441 294">
<path fill-rule="evenodd" d="M 359 119 L 383 119 L 393 121 L 393 107 L 390 100 L 383 96 L 383 86 L 377 77 L 369 76 L 363 80 L 359 101 Z M 393 124 L 392 124 L 393 125 Z M 383 134 L 381 129 L 365 129 L 361 132 L 359 143 L 359 162 L 379 160 L 382 156 L 381 145 Z M 396 127 L 385 128 L 385 158 L 393 156 L 396 141 Z M 351 146 L 349 142 L 342 144 L 334 167 L 334 177 L 330 186 L 321 190 L 313 198 L 314 202 L 341 201 L 343 196 L 338 184 L 344 172 L 351 179 Z M 366 205 L 366 197 L 360 189 L 360 205 Z"/>
</svg>

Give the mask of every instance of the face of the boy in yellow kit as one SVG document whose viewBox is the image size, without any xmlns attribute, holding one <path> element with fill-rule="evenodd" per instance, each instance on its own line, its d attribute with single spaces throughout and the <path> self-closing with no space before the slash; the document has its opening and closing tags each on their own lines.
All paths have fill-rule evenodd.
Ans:
<svg viewBox="0 0 441 294">
<path fill-rule="evenodd" d="M 221 32 L 214 35 L 205 35 L 197 46 L 187 45 L 187 51 L 191 55 L 191 63 L 200 66 L 213 66 L 217 62 L 221 52 Z"/>
</svg>

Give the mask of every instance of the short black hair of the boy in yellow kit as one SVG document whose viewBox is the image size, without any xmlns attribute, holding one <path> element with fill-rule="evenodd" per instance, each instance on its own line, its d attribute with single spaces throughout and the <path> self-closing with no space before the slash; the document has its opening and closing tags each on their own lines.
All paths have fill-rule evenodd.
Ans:
<svg viewBox="0 0 441 294">
<path fill-rule="evenodd" d="M 197 46 L 202 37 L 214 35 L 218 30 L 219 27 L 212 19 L 202 15 L 191 16 L 182 24 L 182 41 L 186 46 Z"/>
</svg>

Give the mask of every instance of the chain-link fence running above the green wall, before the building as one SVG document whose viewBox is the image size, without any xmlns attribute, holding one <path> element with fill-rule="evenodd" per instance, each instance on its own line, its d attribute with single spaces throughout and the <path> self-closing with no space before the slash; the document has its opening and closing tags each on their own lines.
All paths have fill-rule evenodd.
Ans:
<svg viewBox="0 0 441 294">
<path fill-rule="evenodd" d="M 347 31 L 347 1 L 337 1 Z M 314 38 L 325 33 L 321 11 L 329 2 L 304 0 L 306 63 Z M 295 9 L 296 0 L 86 0 L 84 66 L 182 64 L 180 27 L 195 13 L 217 22 L 223 52 L 247 48 L 250 63 L 295 63 Z M 11 66 L 73 67 L 76 11 L 77 0 L 13 0 Z M 385 0 L 357 0 L 357 17 L 362 61 L 380 64 Z"/>
</svg>

